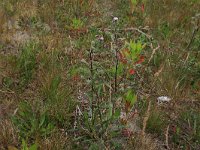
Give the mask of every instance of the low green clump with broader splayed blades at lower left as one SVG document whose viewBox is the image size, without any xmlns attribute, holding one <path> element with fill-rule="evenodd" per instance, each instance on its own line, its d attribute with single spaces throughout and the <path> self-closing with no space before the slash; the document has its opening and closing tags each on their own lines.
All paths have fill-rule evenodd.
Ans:
<svg viewBox="0 0 200 150">
<path fill-rule="evenodd" d="M 32 139 L 37 141 L 41 137 L 46 137 L 54 129 L 54 123 L 47 113 L 32 108 L 26 101 L 19 104 L 19 109 L 12 121 L 19 130 L 20 138 L 28 141 Z"/>
</svg>

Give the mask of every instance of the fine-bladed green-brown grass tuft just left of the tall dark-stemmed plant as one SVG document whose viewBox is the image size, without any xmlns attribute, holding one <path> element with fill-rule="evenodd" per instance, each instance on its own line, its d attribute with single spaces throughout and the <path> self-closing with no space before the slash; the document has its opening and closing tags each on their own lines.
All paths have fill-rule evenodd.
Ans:
<svg viewBox="0 0 200 150">
<path fill-rule="evenodd" d="M 48 74 L 42 82 L 41 97 L 44 100 L 44 109 L 52 115 L 59 126 L 67 127 L 71 126 L 69 121 L 75 109 L 75 101 L 70 96 L 70 88 L 63 86 L 62 81 L 60 75 Z"/>
</svg>

